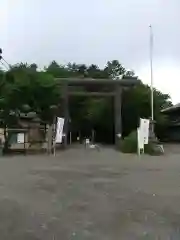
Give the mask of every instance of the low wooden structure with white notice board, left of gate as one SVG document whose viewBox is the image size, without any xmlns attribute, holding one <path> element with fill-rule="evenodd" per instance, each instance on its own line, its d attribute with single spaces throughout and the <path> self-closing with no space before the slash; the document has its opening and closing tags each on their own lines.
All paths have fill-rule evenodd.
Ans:
<svg viewBox="0 0 180 240">
<path fill-rule="evenodd" d="M 47 148 L 46 128 L 36 113 L 22 113 L 17 124 L 0 129 L 1 139 L 5 142 L 6 134 L 10 151 L 39 151 Z"/>
</svg>

